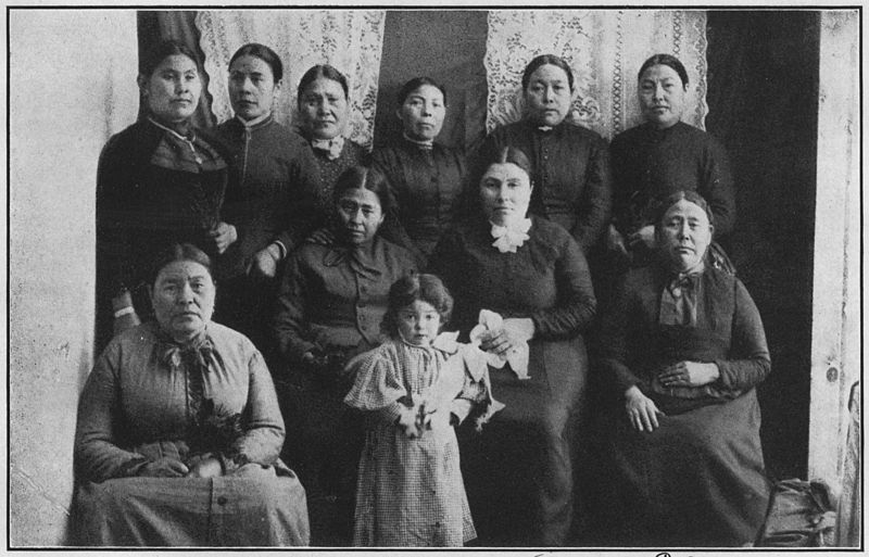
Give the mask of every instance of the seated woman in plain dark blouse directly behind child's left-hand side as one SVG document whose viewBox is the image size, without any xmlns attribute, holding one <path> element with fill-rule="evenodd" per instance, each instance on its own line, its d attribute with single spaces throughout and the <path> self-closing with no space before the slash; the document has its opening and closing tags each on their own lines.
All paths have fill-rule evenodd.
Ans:
<svg viewBox="0 0 869 557">
<path fill-rule="evenodd" d="M 284 401 L 300 439 L 287 457 L 299 470 L 312 502 L 312 522 L 323 510 L 332 530 L 350 543 L 362 423 L 348 419 L 344 395 L 352 378 L 347 360 L 378 346 L 390 286 L 416 270 L 411 253 L 380 238 L 391 210 L 389 187 L 375 169 L 348 169 L 335 186 L 338 227 L 328 245 L 307 242 L 284 271 L 273 332 L 284 363 L 276 377 L 291 384 Z M 337 515 L 337 514 L 338 515 Z M 340 516 L 339 516 L 340 515 Z M 318 532 L 314 543 L 319 545 Z M 324 542 L 325 543 L 325 542 Z"/>
</svg>

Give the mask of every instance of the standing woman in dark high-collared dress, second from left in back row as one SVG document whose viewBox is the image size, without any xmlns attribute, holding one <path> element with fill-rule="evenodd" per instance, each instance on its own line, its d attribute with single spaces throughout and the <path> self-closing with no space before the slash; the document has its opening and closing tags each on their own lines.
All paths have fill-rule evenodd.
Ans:
<svg viewBox="0 0 869 557">
<path fill-rule="evenodd" d="M 229 100 L 236 116 L 217 127 L 231 153 L 232 182 L 223 215 L 239 241 L 218 267 L 217 320 L 266 351 L 264 318 L 274 307 L 278 266 L 311 226 L 316 164 L 305 141 L 272 115 L 284 65 L 270 48 L 244 45 L 229 61 Z"/>
</svg>

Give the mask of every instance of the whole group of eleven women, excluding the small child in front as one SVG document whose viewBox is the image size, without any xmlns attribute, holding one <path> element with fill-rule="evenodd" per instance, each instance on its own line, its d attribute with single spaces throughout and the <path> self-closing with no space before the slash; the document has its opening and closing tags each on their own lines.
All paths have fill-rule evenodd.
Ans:
<svg viewBox="0 0 869 557">
<path fill-rule="evenodd" d="M 621 543 L 753 541 L 767 497 L 754 388 L 769 353 L 709 249 L 732 229 L 733 183 L 720 145 L 680 122 L 677 59 L 642 66 L 646 122 L 612 145 L 566 119 L 567 63 L 533 59 L 525 118 L 473 164 L 436 141 L 448 98 L 428 77 L 400 91 L 402 136 L 369 154 L 342 136 L 349 87 L 329 65 L 299 84 L 299 134 L 272 115 L 285 84 L 267 47 L 230 60 L 235 117 L 212 130 L 190 123 L 196 54 L 166 41 L 140 65 L 146 110 L 98 176 L 108 345 L 78 412 L 81 544 L 326 544 L 324 521 L 349 543 L 362 432 L 347 364 L 383 341 L 390 287 L 423 270 L 452 293 L 459 340 L 483 311 L 502 317 L 480 349 L 506 360 L 488 376 L 504 407 L 458 426 L 479 545 L 581 543 L 590 372 L 612 394 L 599 404 L 608 451 L 591 456 L 613 463 L 631 509 Z M 595 246 L 606 255 L 590 269 Z M 592 270 L 618 286 L 593 287 Z"/>
</svg>

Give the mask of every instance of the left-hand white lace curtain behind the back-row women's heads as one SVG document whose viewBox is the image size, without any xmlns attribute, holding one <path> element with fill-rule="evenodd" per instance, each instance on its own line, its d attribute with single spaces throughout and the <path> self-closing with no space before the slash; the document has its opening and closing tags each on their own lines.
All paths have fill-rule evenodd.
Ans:
<svg viewBox="0 0 869 557">
<path fill-rule="evenodd" d="M 260 42 L 275 50 L 284 63 L 282 87 L 273 109 L 278 122 L 291 126 L 295 121 L 295 90 L 307 68 L 331 64 L 350 84 L 350 118 L 344 135 L 363 145 L 370 144 L 385 18 L 382 10 L 199 12 L 196 23 L 217 122 L 232 117 L 227 92 L 229 59 L 242 45 Z"/>
</svg>

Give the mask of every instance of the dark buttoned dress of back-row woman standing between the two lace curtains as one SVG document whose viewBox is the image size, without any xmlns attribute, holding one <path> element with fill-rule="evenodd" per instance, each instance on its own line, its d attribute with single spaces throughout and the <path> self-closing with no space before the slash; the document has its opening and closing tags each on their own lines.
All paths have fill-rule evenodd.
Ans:
<svg viewBox="0 0 869 557">
<path fill-rule="evenodd" d="M 371 166 L 389 180 L 398 226 L 386 223 L 386 238 L 426 257 L 459 217 L 465 178 L 461 151 L 434 143 L 425 149 L 402 138 L 375 149 Z"/>
</svg>

